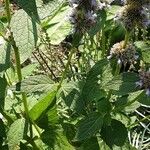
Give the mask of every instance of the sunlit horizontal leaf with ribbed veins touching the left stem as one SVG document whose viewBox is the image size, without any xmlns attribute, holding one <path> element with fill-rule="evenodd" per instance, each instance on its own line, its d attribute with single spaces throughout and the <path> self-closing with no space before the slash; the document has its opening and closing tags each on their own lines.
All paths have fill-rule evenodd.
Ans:
<svg viewBox="0 0 150 150">
<path fill-rule="evenodd" d="M 21 90 L 26 93 L 47 92 L 53 89 L 54 82 L 46 75 L 29 76 L 21 84 Z"/>
</svg>

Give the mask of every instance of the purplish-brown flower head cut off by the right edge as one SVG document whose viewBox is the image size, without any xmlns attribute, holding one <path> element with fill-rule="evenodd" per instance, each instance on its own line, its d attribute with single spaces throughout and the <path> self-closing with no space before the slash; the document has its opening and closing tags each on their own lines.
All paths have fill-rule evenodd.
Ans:
<svg viewBox="0 0 150 150">
<path fill-rule="evenodd" d="M 139 72 L 140 81 L 136 82 L 136 86 L 146 90 L 146 95 L 150 96 L 150 71 Z"/>
</svg>

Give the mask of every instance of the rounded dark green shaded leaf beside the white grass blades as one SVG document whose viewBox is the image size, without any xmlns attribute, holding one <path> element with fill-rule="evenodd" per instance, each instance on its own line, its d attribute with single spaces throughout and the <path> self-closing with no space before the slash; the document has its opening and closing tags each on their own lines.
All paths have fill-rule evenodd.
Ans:
<svg viewBox="0 0 150 150">
<path fill-rule="evenodd" d="M 123 146 L 127 139 L 127 129 L 120 121 L 113 119 L 110 126 L 103 126 L 101 137 L 112 148 L 113 145 Z"/>
</svg>

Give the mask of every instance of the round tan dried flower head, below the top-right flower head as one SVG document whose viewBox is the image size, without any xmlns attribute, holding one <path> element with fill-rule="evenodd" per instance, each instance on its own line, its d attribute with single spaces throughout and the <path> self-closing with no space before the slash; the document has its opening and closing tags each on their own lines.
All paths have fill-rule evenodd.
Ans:
<svg viewBox="0 0 150 150">
<path fill-rule="evenodd" d="M 127 46 L 123 48 L 123 44 L 124 41 L 114 44 L 110 50 L 110 56 L 108 56 L 108 58 L 116 57 L 118 63 L 124 65 L 127 63 L 133 64 L 138 58 L 135 46 L 133 44 L 127 44 Z"/>
</svg>

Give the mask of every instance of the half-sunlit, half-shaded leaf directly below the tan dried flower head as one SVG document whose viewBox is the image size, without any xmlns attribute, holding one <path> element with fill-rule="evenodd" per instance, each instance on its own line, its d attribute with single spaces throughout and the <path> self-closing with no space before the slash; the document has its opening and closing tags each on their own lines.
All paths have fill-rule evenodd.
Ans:
<svg viewBox="0 0 150 150">
<path fill-rule="evenodd" d="M 117 95 L 126 95 L 137 91 L 137 81 L 139 81 L 138 74 L 127 72 L 114 77 L 104 86 L 104 88 L 112 90 L 113 93 Z"/>
</svg>

